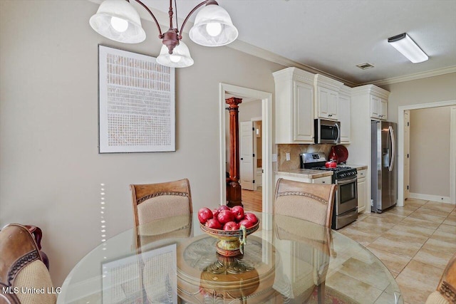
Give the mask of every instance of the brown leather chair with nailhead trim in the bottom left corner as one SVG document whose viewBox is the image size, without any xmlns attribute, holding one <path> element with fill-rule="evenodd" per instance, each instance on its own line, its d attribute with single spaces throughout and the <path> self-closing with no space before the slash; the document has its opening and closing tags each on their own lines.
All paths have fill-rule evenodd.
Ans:
<svg viewBox="0 0 456 304">
<path fill-rule="evenodd" d="M 0 231 L 0 281 L 19 293 L 0 297 L 6 303 L 53 304 L 53 293 L 22 292 L 22 290 L 53 290 L 51 276 L 43 261 L 36 239 L 27 226 L 8 224 Z M 25 289 L 24 289 L 25 288 Z M 17 298 L 17 299 L 16 299 Z M 16 302 L 14 302 L 16 300 Z"/>
</svg>

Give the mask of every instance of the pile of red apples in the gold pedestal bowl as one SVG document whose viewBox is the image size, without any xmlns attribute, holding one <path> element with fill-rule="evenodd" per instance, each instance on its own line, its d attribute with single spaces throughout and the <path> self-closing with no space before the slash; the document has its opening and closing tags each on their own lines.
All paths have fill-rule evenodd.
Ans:
<svg viewBox="0 0 456 304">
<path fill-rule="evenodd" d="M 257 216 L 252 212 L 245 212 L 242 206 L 229 208 L 225 205 L 212 210 L 206 207 L 199 209 L 198 220 L 208 228 L 227 231 L 239 230 L 241 226 L 248 229 L 258 223 Z"/>
</svg>

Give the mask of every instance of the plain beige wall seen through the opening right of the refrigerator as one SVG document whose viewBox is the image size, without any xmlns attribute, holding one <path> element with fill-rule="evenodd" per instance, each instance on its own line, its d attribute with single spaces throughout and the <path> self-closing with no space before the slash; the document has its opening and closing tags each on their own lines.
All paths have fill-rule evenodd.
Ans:
<svg viewBox="0 0 456 304">
<path fill-rule="evenodd" d="M 450 108 L 410 110 L 410 192 L 450 196 Z"/>
</svg>

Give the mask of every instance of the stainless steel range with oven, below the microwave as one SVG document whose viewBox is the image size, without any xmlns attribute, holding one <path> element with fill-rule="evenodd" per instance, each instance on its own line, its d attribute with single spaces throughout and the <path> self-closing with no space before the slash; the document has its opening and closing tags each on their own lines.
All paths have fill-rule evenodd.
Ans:
<svg viewBox="0 0 456 304">
<path fill-rule="evenodd" d="M 337 166 L 326 168 L 323 152 L 301 153 L 301 169 L 316 169 L 333 172 L 333 184 L 337 184 L 333 208 L 332 229 L 340 229 L 358 219 L 358 182 L 356 168 Z"/>
</svg>

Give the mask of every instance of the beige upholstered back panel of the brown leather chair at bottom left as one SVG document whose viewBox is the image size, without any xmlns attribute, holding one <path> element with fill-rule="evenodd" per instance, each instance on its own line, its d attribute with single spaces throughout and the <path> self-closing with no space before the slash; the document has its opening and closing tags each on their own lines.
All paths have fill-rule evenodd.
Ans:
<svg viewBox="0 0 456 304">
<path fill-rule="evenodd" d="M 19 288 L 19 293 L 16 295 L 21 304 L 56 303 L 56 294 L 52 293 L 54 290 L 51 276 L 42 261 L 33 261 L 22 268 L 14 280 L 13 287 Z M 33 292 L 33 290 L 43 290 L 44 293 Z"/>
</svg>

